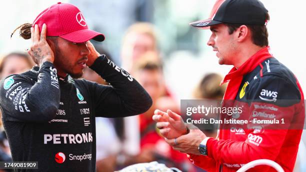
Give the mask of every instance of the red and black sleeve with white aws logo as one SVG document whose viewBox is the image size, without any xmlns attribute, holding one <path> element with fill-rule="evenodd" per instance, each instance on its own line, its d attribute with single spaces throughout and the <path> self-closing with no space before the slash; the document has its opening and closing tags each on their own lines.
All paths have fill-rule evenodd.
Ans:
<svg viewBox="0 0 306 172">
<path fill-rule="evenodd" d="M 301 92 L 294 82 L 275 75 L 265 75 L 249 86 L 248 115 L 251 118 L 273 118 L 286 114 L 287 120 L 290 121 L 296 115 L 295 105 L 301 101 Z M 262 158 L 275 160 L 287 132 L 287 128 L 269 129 L 268 125 L 264 125 L 259 129 L 250 129 L 244 141 L 210 138 L 206 143 L 207 154 L 221 164 L 243 165 Z"/>
</svg>

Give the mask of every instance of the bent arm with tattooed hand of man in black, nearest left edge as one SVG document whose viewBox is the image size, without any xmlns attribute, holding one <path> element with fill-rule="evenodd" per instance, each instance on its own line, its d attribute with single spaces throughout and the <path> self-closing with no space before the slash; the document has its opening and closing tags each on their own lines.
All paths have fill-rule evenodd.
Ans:
<svg viewBox="0 0 306 172">
<path fill-rule="evenodd" d="M 40 34 L 37 24 L 31 27 L 31 41 L 28 53 L 40 65 L 37 82 L 23 75 L 11 75 L 1 82 L 1 107 L 6 120 L 48 121 L 59 106 L 59 84 L 52 63 L 54 55 L 46 41 L 45 24 Z"/>
</svg>

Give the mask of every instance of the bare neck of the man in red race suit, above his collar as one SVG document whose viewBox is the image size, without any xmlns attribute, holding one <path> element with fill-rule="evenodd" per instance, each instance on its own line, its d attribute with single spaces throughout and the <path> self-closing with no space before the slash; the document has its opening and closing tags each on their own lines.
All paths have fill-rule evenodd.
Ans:
<svg viewBox="0 0 306 172">
<path fill-rule="evenodd" d="M 233 65 L 236 68 L 239 68 L 245 61 L 247 61 L 252 55 L 258 52 L 260 49 L 265 46 L 258 46 L 253 43 L 245 44 L 244 46 L 240 46 L 238 53 L 235 55 L 235 61 L 233 61 Z"/>
</svg>

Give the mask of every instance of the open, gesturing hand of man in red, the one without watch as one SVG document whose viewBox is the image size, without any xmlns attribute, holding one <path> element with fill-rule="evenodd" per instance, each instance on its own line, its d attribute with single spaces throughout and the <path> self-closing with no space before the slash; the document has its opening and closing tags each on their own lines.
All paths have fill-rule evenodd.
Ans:
<svg viewBox="0 0 306 172">
<path fill-rule="evenodd" d="M 167 110 L 167 112 L 156 109 L 153 120 L 162 136 L 171 139 L 188 133 L 188 129 L 180 115 Z"/>
</svg>

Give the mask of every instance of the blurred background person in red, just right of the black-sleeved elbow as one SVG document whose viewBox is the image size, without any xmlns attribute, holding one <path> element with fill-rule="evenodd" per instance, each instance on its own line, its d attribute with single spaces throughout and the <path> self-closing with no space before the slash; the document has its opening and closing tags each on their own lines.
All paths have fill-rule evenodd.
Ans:
<svg viewBox="0 0 306 172">
<path fill-rule="evenodd" d="M 154 109 L 160 108 L 158 100 L 165 97 L 164 107 L 173 107 L 177 111 L 178 105 L 174 99 L 165 95 L 165 80 L 162 72 L 162 64 L 159 61 L 158 54 L 154 51 L 148 51 L 142 54 L 134 63 L 134 77 L 139 81 L 143 88 L 152 98 L 152 106 L 144 113 L 138 115 L 140 128 L 140 152 L 133 159 L 133 163 L 158 161 L 167 166 L 175 166 L 183 171 L 193 171 L 193 167 L 187 160 L 184 153 L 173 150 L 159 135 L 155 122 L 152 120 Z M 174 108 L 174 107 L 173 107 Z M 161 108 L 163 109 L 163 108 Z M 163 109 L 166 110 L 166 109 Z"/>
</svg>

